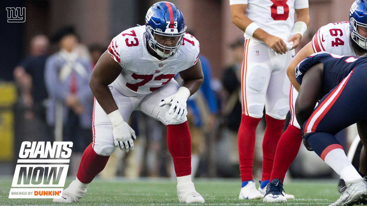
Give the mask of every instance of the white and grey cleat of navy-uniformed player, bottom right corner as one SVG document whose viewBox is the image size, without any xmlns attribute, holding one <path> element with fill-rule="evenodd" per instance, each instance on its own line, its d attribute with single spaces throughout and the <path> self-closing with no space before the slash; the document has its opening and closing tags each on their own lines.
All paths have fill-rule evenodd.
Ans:
<svg viewBox="0 0 367 206">
<path fill-rule="evenodd" d="M 367 200 L 366 177 L 346 181 L 345 187 L 341 189 L 341 192 L 342 194 L 340 195 L 340 198 L 329 206 L 350 206 Z"/>
</svg>

